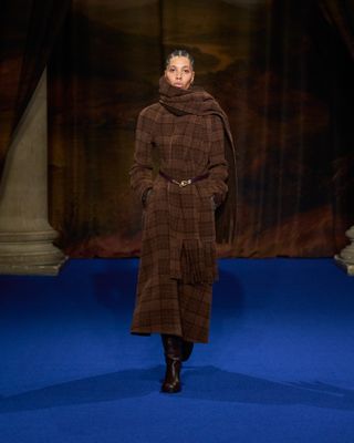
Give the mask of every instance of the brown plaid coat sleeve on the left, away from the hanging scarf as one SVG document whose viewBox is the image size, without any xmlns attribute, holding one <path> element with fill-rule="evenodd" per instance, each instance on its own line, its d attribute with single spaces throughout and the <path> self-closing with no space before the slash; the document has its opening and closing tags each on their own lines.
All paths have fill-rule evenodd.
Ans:
<svg viewBox="0 0 354 443">
<path fill-rule="evenodd" d="M 137 120 L 134 162 L 129 171 L 131 186 L 142 202 L 153 187 L 153 126 L 148 110 L 143 110 Z"/>
</svg>

